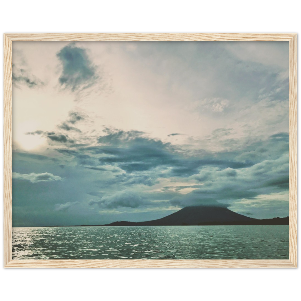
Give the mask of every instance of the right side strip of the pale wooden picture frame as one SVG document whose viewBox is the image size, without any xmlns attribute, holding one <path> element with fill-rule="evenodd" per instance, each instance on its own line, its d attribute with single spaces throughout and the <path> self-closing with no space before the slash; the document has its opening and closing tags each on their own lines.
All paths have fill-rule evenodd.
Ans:
<svg viewBox="0 0 301 301">
<path fill-rule="evenodd" d="M 289 41 L 289 260 L 297 266 L 297 35 Z"/>
</svg>

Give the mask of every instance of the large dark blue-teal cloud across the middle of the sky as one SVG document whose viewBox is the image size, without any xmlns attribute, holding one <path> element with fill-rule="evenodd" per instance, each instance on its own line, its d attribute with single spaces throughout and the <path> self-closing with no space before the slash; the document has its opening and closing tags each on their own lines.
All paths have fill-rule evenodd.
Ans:
<svg viewBox="0 0 301 301">
<path fill-rule="evenodd" d="M 170 143 L 143 137 L 143 134 L 143 132 L 138 131 L 107 130 L 107 135 L 98 137 L 98 142 L 106 145 L 92 147 L 90 150 L 98 154 L 107 155 L 99 158 L 101 163 L 117 164 L 129 173 L 146 171 L 157 166 L 171 166 L 171 175 L 186 176 L 197 173 L 201 166 L 206 165 L 219 166 L 220 168 L 231 167 L 234 169 L 253 165 L 250 162 L 234 160 L 187 158 L 178 153 Z M 120 147 L 120 145 L 123 145 L 123 147 Z"/>
</svg>

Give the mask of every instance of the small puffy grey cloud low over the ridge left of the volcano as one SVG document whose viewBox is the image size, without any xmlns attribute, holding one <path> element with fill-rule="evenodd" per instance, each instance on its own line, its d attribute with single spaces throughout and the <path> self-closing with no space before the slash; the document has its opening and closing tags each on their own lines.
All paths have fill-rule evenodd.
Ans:
<svg viewBox="0 0 301 301">
<path fill-rule="evenodd" d="M 118 207 L 137 208 L 144 204 L 142 197 L 134 191 L 118 191 L 110 196 L 104 196 L 100 201 L 91 200 L 90 205 L 98 204 L 98 206 L 107 209 Z"/>
</svg>

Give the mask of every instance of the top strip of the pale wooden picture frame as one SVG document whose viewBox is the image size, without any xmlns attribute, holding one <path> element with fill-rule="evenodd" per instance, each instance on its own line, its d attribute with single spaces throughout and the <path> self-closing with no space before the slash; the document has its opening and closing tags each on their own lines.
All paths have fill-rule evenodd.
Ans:
<svg viewBox="0 0 301 301">
<path fill-rule="evenodd" d="M 5 33 L 11 41 L 289 41 L 296 33 Z"/>
</svg>

